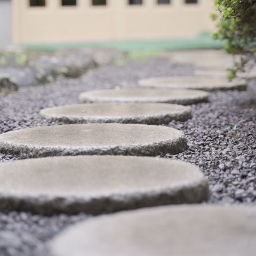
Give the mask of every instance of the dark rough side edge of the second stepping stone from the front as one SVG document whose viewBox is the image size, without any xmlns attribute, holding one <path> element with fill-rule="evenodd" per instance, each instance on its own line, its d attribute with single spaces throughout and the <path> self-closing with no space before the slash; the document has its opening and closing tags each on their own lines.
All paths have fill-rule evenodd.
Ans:
<svg viewBox="0 0 256 256">
<path fill-rule="evenodd" d="M 58 213 L 98 215 L 113 213 L 121 210 L 155 207 L 170 204 L 191 204 L 206 201 L 209 197 L 207 178 L 203 176 L 191 183 L 162 189 L 135 191 L 127 194 L 111 194 L 108 196 L 81 197 L 15 197 L 0 194 L 1 211 L 26 211 L 40 215 L 54 215 Z"/>
</svg>

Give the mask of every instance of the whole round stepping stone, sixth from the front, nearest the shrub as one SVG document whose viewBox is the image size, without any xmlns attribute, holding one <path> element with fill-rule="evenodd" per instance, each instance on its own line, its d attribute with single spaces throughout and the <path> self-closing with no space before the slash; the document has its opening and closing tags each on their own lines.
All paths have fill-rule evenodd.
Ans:
<svg viewBox="0 0 256 256">
<path fill-rule="evenodd" d="M 156 77 L 141 79 L 138 81 L 139 86 L 149 88 L 165 89 L 201 89 L 206 91 L 229 90 L 229 89 L 246 89 L 246 80 L 237 79 L 228 82 L 226 78 L 209 78 L 209 77 Z"/>
</svg>

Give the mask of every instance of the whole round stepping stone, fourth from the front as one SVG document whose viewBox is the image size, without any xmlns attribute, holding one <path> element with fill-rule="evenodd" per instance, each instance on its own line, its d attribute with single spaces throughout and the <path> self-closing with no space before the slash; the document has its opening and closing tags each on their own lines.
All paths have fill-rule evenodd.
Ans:
<svg viewBox="0 0 256 256">
<path fill-rule="evenodd" d="M 137 123 L 167 124 L 191 118 L 191 109 L 163 103 L 91 103 L 45 108 L 40 116 L 68 124 Z"/>
</svg>

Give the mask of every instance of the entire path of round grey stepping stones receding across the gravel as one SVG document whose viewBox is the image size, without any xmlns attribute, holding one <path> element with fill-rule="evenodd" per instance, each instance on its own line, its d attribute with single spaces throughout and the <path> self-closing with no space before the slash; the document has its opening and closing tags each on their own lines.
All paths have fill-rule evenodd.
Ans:
<svg viewBox="0 0 256 256">
<path fill-rule="evenodd" d="M 207 66 L 208 58 L 194 62 L 192 55 L 191 64 Z M 213 58 L 209 67 L 229 62 L 226 57 Z M 41 117 L 69 125 L 0 134 L 1 153 L 39 157 L 0 164 L 0 210 L 98 215 L 207 200 L 207 179 L 197 166 L 165 158 L 109 155 L 183 152 L 187 148 L 183 132 L 145 124 L 187 120 L 190 108 L 170 103 L 207 102 L 208 93 L 197 89 L 242 90 L 246 81 L 194 76 L 138 83 L 144 88 L 87 91 L 79 96 L 87 104 L 40 111 Z M 79 223 L 54 238 L 49 251 L 52 256 L 253 256 L 255 220 L 256 207 L 147 208 Z"/>
</svg>

